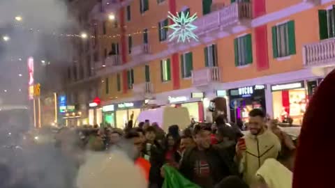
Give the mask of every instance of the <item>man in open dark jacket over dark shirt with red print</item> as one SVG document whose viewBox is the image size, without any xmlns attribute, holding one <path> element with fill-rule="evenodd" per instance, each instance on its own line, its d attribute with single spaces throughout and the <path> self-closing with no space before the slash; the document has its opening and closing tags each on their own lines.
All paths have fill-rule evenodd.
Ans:
<svg viewBox="0 0 335 188">
<path fill-rule="evenodd" d="M 179 171 L 202 188 L 213 188 L 228 175 L 236 175 L 225 150 L 211 146 L 211 128 L 195 126 L 193 139 L 197 146 L 184 153 Z"/>
</svg>

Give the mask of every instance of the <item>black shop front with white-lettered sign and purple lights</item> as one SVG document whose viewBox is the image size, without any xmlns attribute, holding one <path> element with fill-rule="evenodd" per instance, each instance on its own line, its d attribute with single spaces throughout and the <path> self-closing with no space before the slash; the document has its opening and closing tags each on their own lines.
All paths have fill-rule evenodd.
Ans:
<svg viewBox="0 0 335 188">
<path fill-rule="evenodd" d="M 228 91 L 230 99 L 230 120 L 237 122 L 248 120 L 248 113 L 253 109 L 262 109 L 266 113 L 265 86 L 247 86 Z"/>
</svg>

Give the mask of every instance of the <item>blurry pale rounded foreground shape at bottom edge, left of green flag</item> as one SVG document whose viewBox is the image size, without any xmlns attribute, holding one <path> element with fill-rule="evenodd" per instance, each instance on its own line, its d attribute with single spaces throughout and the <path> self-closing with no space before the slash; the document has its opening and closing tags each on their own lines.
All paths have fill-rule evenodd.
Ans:
<svg viewBox="0 0 335 188">
<path fill-rule="evenodd" d="M 123 152 L 92 152 L 80 167 L 78 188 L 147 188 L 141 169 Z"/>
</svg>

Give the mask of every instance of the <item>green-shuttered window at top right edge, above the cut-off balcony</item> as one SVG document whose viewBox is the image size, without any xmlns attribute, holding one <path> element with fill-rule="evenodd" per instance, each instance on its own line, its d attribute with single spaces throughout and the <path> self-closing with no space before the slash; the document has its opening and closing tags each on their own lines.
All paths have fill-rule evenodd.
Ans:
<svg viewBox="0 0 335 188">
<path fill-rule="evenodd" d="M 329 10 L 319 10 L 320 39 L 335 37 L 335 6 Z"/>
</svg>

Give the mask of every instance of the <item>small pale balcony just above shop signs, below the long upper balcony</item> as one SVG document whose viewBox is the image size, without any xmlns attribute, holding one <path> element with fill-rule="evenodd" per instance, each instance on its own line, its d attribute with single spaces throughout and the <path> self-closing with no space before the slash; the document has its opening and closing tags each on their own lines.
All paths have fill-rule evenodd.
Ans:
<svg viewBox="0 0 335 188">
<path fill-rule="evenodd" d="M 221 81 L 221 71 L 218 67 L 202 68 L 192 71 L 193 86 L 206 86 Z"/>
</svg>

